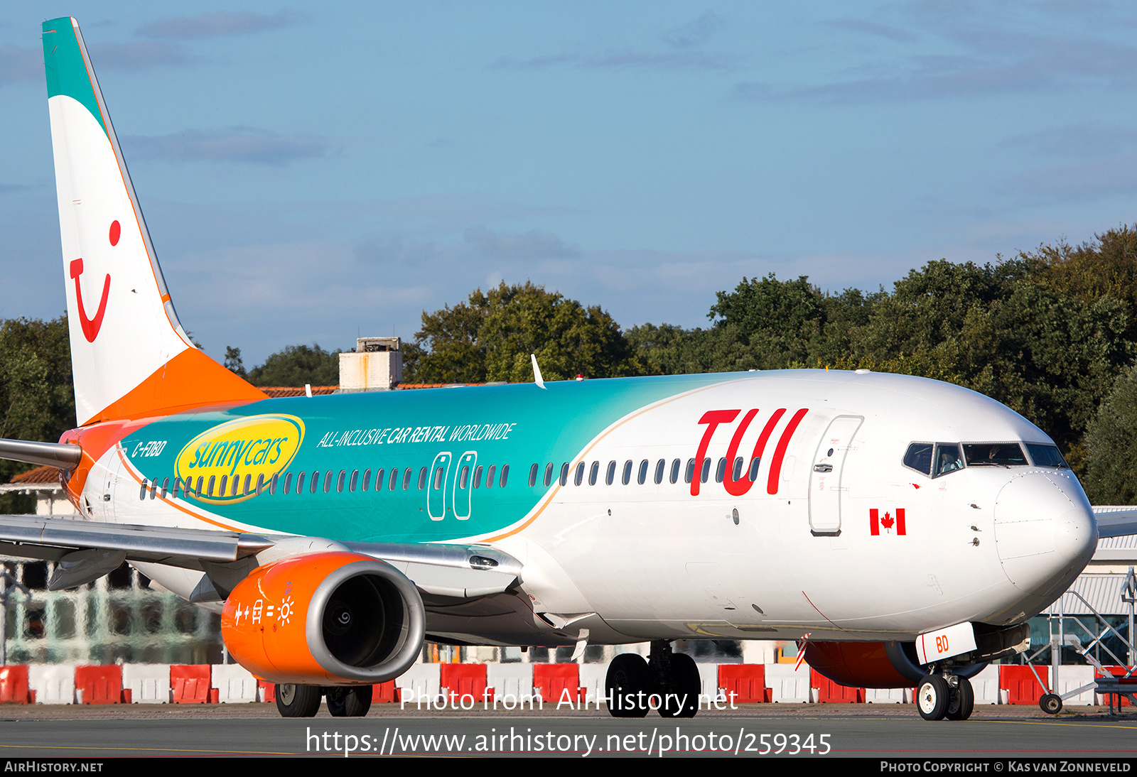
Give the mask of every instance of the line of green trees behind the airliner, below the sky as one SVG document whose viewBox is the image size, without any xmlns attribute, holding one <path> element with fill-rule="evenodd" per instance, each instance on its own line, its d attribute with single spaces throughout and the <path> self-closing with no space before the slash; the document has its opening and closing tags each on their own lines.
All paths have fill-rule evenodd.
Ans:
<svg viewBox="0 0 1137 777">
<path fill-rule="evenodd" d="M 707 319 L 624 331 L 599 306 L 501 283 L 423 311 L 404 344 L 404 381 L 531 381 L 530 353 L 550 381 L 798 367 L 920 375 L 987 394 L 1041 427 L 1095 503 L 1137 502 L 1135 228 L 986 265 L 932 261 L 891 291 L 742 278 L 717 293 Z M 230 346 L 225 366 L 255 385 L 331 385 L 338 354 L 290 345 L 246 370 Z M 0 364 L 2 436 L 58 438 L 74 421 L 66 320 L 3 321 Z M 9 463 L 0 478 L 14 474 Z"/>
</svg>

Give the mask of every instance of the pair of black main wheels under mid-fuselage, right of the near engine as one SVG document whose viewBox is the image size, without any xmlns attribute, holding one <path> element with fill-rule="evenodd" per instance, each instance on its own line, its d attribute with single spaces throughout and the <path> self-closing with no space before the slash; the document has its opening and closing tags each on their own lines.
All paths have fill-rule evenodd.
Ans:
<svg viewBox="0 0 1137 777">
<path fill-rule="evenodd" d="M 642 718 L 650 710 L 664 718 L 692 718 L 703 691 L 695 660 L 672 653 L 666 640 L 652 643 L 647 661 L 636 653 L 614 658 L 604 686 L 614 718 Z"/>
</svg>

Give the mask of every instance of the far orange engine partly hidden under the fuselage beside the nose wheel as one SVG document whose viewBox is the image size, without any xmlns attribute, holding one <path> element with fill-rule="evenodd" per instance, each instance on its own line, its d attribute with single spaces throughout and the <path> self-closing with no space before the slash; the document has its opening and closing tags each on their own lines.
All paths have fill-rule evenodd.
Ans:
<svg viewBox="0 0 1137 777">
<path fill-rule="evenodd" d="M 899 642 L 806 642 L 805 661 L 855 688 L 907 688 L 927 674 Z"/>
</svg>

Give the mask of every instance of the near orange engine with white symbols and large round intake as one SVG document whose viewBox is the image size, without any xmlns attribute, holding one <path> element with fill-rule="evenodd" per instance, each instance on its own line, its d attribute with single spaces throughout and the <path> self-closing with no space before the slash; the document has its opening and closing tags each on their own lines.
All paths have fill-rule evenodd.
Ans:
<svg viewBox="0 0 1137 777">
<path fill-rule="evenodd" d="M 418 590 L 395 567 L 332 551 L 257 567 L 225 600 L 221 632 L 260 679 L 374 684 L 415 662 L 425 616 Z"/>
</svg>

